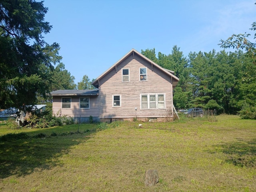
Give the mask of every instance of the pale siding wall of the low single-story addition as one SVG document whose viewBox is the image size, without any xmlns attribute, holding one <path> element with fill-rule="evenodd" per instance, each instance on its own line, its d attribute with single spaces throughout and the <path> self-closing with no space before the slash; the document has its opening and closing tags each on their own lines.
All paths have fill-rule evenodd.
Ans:
<svg viewBox="0 0 256 192">
<path fill-rule="evenodd" d="M 61 108 L 62 97 L 71 97 L 71 109 Z M 90 109 L 79 109 L 79 98 L 80 96 L 53 96 L 52 113 L 56 116 L 61 115 L 69 117 L 98 117 L 98 96 L 90 96 Z"/>
</svg>

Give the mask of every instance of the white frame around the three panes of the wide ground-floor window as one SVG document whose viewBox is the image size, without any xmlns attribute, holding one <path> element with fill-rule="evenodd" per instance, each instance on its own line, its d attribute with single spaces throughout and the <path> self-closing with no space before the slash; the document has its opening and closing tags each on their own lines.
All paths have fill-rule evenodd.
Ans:
<svg viewBox="0 0 256 192">
<path fill-rule="evenodd" d="M 142 108 L 142 96 L 147 96 L 147 102 L 144 101 L 144 103 L 147 103 L 147 108 Z M 155 96 L 154 103 L 156 104 L 155 108 L 150 108 L 150 103 L 153 103 L 153 101 L 150 101 L 150 96 Z M 164 96 L 164 101 L 158 101 L 158 96 Z M 159 108 L 158 104 L 164 103 L 164 108 Z M 141 110 L 165 110 L 166 109 L 166 97 L 165 93 L 144 93 L 140 94 L 140 109 Z"/>
</svg>

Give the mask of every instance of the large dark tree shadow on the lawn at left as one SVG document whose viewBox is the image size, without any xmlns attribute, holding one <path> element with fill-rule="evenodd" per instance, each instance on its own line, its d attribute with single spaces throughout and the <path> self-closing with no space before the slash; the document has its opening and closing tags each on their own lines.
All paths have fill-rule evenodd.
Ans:
<svg viewBox="0 0 256 192">
<path fill-rule="evenodd" d="M 11 175 L 31 174 L 35 170 L 62 166 L 59 157 L 67 154 L 70 147 L 88 140 L 90 132 L 68 132 L 57 136 L 45 136 L 42 130 L 25 133 L 8 134 L 0 137 L 0 178 Z M 42 137 L 40 137 L 40 135 Z M 39 136 L 39 137 L 38 137 Z M 7 137 L 7 138 L 6 138 Z"/>
</svg>

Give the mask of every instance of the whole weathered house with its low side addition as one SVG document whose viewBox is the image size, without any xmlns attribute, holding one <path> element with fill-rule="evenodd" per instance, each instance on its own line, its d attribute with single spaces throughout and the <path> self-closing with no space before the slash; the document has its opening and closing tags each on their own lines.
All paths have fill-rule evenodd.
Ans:
<svg viewBox="0 0 256 192">
<path fill-rule="evenodd" d="M 173 120 L 173 88 L 179 78 L 135 49 L 96 78 L 94 90 L 56 90 L 52 112 L 82 122 Z"/>
</svg>

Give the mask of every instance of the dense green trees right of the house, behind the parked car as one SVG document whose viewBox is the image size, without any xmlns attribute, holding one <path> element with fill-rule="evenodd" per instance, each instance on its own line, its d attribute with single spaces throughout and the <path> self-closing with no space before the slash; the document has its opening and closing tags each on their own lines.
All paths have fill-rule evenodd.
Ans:
<svg viewBox="0 0 256 192">
<path fill-rule="evenodd" d="M 200 107 L 221 113 L 237 114 L 246 106 L 255 106 L 256 82 L 245 80 L 253 58 L 242 50 L 235 52 L 190 52 L 188 58 L 173 46 L 168 55 L 155 49 L 142 54 L 180 78 L 174 89 L 176 108 Z"/>
</svg>

